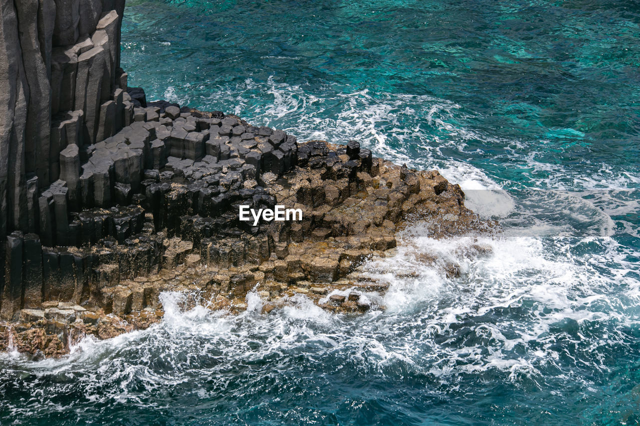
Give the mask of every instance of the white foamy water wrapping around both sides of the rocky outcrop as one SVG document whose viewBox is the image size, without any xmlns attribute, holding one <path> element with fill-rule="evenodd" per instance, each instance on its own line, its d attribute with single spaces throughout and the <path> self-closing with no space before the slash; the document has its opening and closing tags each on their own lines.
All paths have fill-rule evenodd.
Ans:
<svg viewBox="0 0 640 426">
<path fill-rule="evenodd" d="M 482 381 L 496 375 L 516 389 L 540 389 L 550 375 L 559 386 L 589 388 L 597 377 L 586 372 L 610 368 L 598 354 L 630 350 L 634 338 L 628 330 L 640 326 L 640 273 L 633 262 L 640 253 L 618 237 L 638 237 L 633 217 L 640 204 L 637 194 L 609 189 L 634 182 L 633 174 L 612 177 L 605 167 L 606 182 L 597 176 L 593 182 L 578 179 L 571 184 L 578 189 L 573 193 L 513 183 L 505 191 L 488 171 L 464 158 L 476 155 L 470 146 L 478 139 L 507 144 L 507 155 L 520 161 L 527 146 L 489 140 L 454 125 L 469 113 L 452 102 L 399 94 L 373 97 L 367 90 L 327 98 L 273 79 L 266 86 L 247 79 L 244 88 L 248 95 L 242 99 L 234 95 L 237 91 L 216 96 L 234 104 L 234 112 L 250 122 L 281 127 L 301 141 L 360 139 L 376 155 L 418 168 L 438 167 L 461 184 L 468 207 L 498 217 L 504 232 L 436 241 L 419 224 L 407 230 L 394 256 L 364 265 L 371 278 L 390 285 L 378 301 L 384 312 L 333 315 L 298 295 L 265 315 L 264 301 L 254 291 L 247 295 L 246 312 L 231 315 L 210 312 L 198 295 L 163 293 L 165 317 L 145 331 L 103 342 L 84 340 L 63 359 L 3 358 L 3 363 L 43 378 L 74 372 L 83 377 L 88 398 L 121 404 L 140 398 L 131 391 L 135 388 L 154 395 L 166 386 L 208 377 L 216 377 L 213 388 L 224 388 L 239 375 L 246 380 L 238 390 L 244 395 L 260 385 L 239 373 L 238 365 L 266 363 L 286 375 L 291 359 L 304 359 L 314 377 L 331 374 L 325 366 L 355 377 L 397 371 L 435 377 L 444 386 L 436 393 L 454 393 L 470 377 Z M 253 102 L 257 99 L 251 93 L 260 91 L 273 96 L 273 102 Z M 175 91 L 166 95 L 184 102 Z M 431 134 L 429 140 L 423 140 L 425 134 Z M 551 172 L 536 155 L 524 164 L 532 175 Z M 564 178 L 554 179 L 531 182 L 547 189 L 571 187 Z M 474 244 L 492 251 L 469 255 Z M 438 261 L 421 262 L 417 253 Z M 451 264 L 460 277 L 447 277 Z M 99 375 L 93 374 L 96 368 Z M 268 381 L 273 368 L 260 372 L 262 380 Z M 431 386 L 431 379 L 422 380 L 420 386 Z M 109 386 L 113 390 L 104 393 Z M 215 395 L 211 388 L 198 392 L 198 397 Z"/>
</svg>

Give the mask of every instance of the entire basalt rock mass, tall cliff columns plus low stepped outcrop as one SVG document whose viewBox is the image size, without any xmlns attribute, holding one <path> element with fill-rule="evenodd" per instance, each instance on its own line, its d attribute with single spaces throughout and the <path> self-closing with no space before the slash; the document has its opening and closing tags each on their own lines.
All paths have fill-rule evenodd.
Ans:
<svg viewBox="0 0 640 426">
<path fill-rule="evenodd" d="M 372 158 L 357 141 L 298 143 L 220 111 L 147 102 L 119 68 L 124 1 L 2 4 L 0 350 L 58 356 L 85 335 L 147 327 L 164 290 L 230 312 L 252 290 L 264 312 L 296 294 L 381 309 L 387 285 L 360 265 L 392 253 L 405 223 L 435 237 L 495 225 L 437 171 Z M 253 226 L 241 205 L 303 219 Z"/>
</svg>

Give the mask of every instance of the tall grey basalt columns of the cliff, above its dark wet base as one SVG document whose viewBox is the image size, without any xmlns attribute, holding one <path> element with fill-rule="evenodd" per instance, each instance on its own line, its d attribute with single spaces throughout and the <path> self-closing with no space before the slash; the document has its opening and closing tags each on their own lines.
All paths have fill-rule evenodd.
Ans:
<svg viewBox="0 0 640 426">
<path fill-rule="evenodd" d="M 132 112 L 120 69 L 124 0 L 5 0 L 0 24 L 0 236 L 40 230 L 60 152 L 111 136 Z M 64 177 L 64 175 L 63 175 Z"/>
</svg>

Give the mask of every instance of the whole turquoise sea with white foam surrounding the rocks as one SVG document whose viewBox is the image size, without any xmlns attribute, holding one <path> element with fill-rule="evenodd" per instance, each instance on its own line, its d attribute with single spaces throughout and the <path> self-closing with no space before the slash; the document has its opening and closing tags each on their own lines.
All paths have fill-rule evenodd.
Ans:
<svg viewBox="0 0 640 426">
<path fill-rule="evenodd" d="M 468 259 L 473 237 L 416 224 L 366 265 L 385 312 L 163 294 L 147 331 L 2 356 L 1 424 L 640 423 L 640 4 L 127 4 L 123 66 L 148 99 L 439 168 L 504 233 Z"/>
</svg>

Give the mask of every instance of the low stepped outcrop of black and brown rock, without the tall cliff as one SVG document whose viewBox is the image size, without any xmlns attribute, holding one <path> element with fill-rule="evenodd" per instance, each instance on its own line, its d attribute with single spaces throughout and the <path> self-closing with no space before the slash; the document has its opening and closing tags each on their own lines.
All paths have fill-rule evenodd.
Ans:
<svg viewBox="0 0 640 426">
<path fill-rule="evenodd" d="M 65 205 L 62 180 L 44 194 L 54 206 L 42 216 L 54 223 L 46 238 L 55 247 L 40 246 L 34 234 L 9 236 L 7 259 L 19 272 L 4 292 L 12 321 L 0 326 L 0 346 L 52 356 L 82 336 L 147 327 L 163 315 L 163 291 L 197 294 L 230 312 L 246 308 L 249 292 L 264 312 L 296 294 L 327 310 L 382 309 L 388 283 L 362 264 L 392 253 L 406 223 L 424 221 L 434 237 L 492 228 L 437 171 L 372 158 L 356 141 L 298 143 L 236 116 L 154 103 L 134 115 L 152 121 L 91 145 L 81 175 L 79 162 L 64 161 L 80 182 L 79 211 Z M 63 155 L 74 159 L 77 150 Z M 241 205 L 285 205 L 302 220 L 253 226 L 239 220 Z M 469 248 L 472 256 L 485 251 Z M 460 273 L 420 255 L 449 276 Z"/>
</svg>

